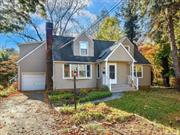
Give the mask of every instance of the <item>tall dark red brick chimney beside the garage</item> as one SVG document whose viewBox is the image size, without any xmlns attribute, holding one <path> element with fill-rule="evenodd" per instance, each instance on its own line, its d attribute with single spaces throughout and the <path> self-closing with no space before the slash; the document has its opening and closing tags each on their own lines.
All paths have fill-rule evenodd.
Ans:
<svg viewBox="0 0 180 135">
<path fill-rule="evenodd" d="M 46 23 L 46 90 L 53 90 L 53 62 L 52 62 L 53 24 Z"/>
</svg>

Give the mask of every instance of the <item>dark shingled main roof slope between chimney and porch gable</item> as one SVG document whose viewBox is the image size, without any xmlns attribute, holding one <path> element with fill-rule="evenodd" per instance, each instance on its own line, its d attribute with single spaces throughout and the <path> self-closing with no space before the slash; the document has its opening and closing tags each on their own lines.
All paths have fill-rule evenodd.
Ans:
<svg viewBox="0 0 180 135">
<path fill-rule="evenodd" d="M 53 36 L 53 60 L 54 61 L 79 61 L 79 62 L 95 62 L 100 53 L 103 50 L 111 47 L 113 41 L 103 41 L 103 40 L 93 40 L 94 41 L 94 56 L 74 56 L 72 44 L 70 42 L 68 45 L 63 46 L 67 42 L 73 40 L 74 37 L 62 37 L 62 36 Z"/>
</svg>

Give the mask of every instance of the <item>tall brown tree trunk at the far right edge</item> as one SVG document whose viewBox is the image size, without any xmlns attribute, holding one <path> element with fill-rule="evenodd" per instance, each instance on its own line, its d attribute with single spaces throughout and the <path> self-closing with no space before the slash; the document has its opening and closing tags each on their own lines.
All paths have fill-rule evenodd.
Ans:
<svg viewBox="0 0 180 135">
<path fill-rule="evenodd" d="M 180 63 L 178 61 L 177 46 L 176 46 L 175 35 L 174 35 L 174 24 L 173 24 L 172 15 L 168 16 L 168 35 L 169 35 L 169 42 L 171 45 L 173 67 L 175 71 L 176 88 L 180 90 Z"/>
</svg>

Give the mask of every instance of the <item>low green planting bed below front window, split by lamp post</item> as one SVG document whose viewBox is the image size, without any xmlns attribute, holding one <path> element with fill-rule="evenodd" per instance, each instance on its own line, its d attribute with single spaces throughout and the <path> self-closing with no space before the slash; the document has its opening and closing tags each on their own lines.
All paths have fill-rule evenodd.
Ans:
<svg viewBox="0 0 180 135">
<path fill-rule="evenodd" d="M 112 93 L 105 90 L 82 90 L 78 93 L 78 102 L 88 102 L 111 96 Z M 55 106 L 62 106 L 74 103 L 74 94 L 72 92 L 51 92 L 48 94 L 50 102 Z"/>
</svg>

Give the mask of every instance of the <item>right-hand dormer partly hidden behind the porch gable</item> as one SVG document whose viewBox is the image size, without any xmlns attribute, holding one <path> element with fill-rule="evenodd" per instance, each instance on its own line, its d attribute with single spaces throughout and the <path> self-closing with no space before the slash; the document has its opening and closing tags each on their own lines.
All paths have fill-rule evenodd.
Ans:
<svg viewBox="0 0 180 135">
<path fill-rule="evenodd" d="M 134 56 L 134 44 L 127 37 L 124 37 L 122 39 L 121 43 L 124 45 L 124 47 L 127 49 L 127 51 L 132 56 Z"/>
</svg>

